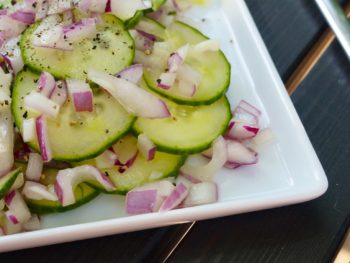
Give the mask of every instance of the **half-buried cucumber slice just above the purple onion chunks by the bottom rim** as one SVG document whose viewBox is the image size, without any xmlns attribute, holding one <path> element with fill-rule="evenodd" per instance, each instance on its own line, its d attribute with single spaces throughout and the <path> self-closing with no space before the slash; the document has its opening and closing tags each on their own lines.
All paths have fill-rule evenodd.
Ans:
<svg viewBox="0 0 350 263">
<path fill-rule="evenodd" d="M 130 143 L 130 138 L 134 140 L 135 144 L 137 143 L 136 138 L 128 135 L 127 140 L 124 140 L 126 142 L 125 146 Z M 119 146 L 122 147 L 123 139 L 121 141 L 121 145 Z M 185 159 L 186 157 L 181 155 L 156 152 L 155 158 L 151 161 L 147 161 L 139 153 L 132 166 L 130 168 L 125 168 L 126 170 L 123 173 L 119 171 L 119 167 L 117 166 L 102 169 L 101 171 L 105 173 L 116 186 L 117 191 L 115 191 L 114 194 L 126 194 L 131 189 L 145 183 L 157 181 L 170 176 L 177 176 Z M 95 161 L 91 160 L 90 164 L 95 165 Z M 162 175 L 158 178 L 150 178 L 152 172 L 162 173 Z M 98 184 L 93 182 L 89 182 L 89 184 L 96 189 L 105 192 Z M 111 192 L 105 193 L 110 194 Z"/>
</svg>

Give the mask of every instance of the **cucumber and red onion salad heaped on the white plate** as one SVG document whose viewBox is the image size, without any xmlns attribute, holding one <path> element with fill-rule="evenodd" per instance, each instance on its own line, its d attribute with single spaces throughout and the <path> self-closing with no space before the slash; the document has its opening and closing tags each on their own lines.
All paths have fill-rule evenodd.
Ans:
<svg viewBox="0 0 350 263">
<path fill-rule="evenodd" d="M 130 215 L 216 202 L 220 169 L 258 161 L 261 112 L 230 105 L 220 43 L 186 0 L 0 4 L 0 235 L 100 193 Z"/>
</svg>

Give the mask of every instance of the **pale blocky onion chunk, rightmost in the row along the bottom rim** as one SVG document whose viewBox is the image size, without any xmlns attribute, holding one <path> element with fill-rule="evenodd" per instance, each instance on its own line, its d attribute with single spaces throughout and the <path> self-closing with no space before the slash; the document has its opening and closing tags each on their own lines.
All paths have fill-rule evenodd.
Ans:
<svg viewBox="0 0 350 263">
<path fill-rule="evenodd" d="M 183 205 L 197 206 L 215 203 L 218 200 L 217 186 L 212 182 L 203 182 L 192 185 Z"/>
</svg>

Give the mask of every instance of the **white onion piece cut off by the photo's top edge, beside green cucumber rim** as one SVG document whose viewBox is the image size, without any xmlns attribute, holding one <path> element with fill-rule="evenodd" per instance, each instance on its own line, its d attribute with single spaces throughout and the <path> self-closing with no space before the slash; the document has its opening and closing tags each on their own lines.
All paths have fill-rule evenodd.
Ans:
<svg viewBox="0 0 350 263">
<path fill-rule="evenodd" d="M 151 7 L 148 1 L 143 0 L 111 0 L 111 12 L 122 20 L 133 17 L 138 10 Z"/>
</svg>

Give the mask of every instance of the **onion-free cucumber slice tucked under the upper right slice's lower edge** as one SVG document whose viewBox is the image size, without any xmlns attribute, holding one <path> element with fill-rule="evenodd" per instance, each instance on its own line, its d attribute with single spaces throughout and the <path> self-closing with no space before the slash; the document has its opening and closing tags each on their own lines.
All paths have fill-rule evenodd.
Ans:
<svg viewBox="0 0 350 263">
<path fill-rule="evenodd" d="M 230 104 L 225 96 L 211 105 L 196 107 L 164 101 L 171 112 L 171 118 L 138 118 L 133 126 L 136 133 L 144 133 L 163 152 L 202 152 L 226 131 L 232 117 Z"/>
</svg>

